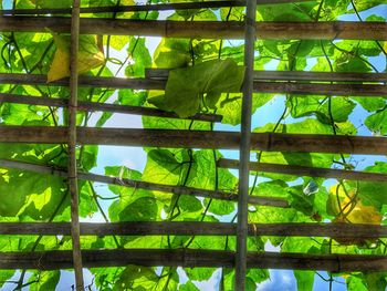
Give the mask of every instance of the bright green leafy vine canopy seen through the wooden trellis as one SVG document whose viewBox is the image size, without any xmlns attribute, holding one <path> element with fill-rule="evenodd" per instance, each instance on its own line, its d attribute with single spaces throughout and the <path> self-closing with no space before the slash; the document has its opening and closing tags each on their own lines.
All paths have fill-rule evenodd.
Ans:
<svg viewBox="0 0 387 291">
<path fill-rule="evenodd" d="M 82 0 L 82 7 L 135 4 L 133 0 Z M 172 1 L 150 1 L 181 2 Z M 185 0 L 184 2 L 190 2 Z M 287 4 L 259 6 L 259 21 L 335 21 L 343 17 L 366 11 L 381 4 L 385 0 L 310 1 Z M 2 7 L 4 2 L 0 2 Z M 70 8 L 69 0 L 17 0 L 15 9 Z M 321 6 L 321 7 L 320 7 Z M 380 11 L 379 11 L 380 10 Z M 386 21 L 381 9 L 363 21 Z M 368 12 L 366 12 L 368 13 Z M 165 14 L 161 14 L 163 17 Z M 363 13 L 360 13 L 363 15 Z M 368 14 L 367 14 L 368 15 Z M 92 18 L 126 18 L 132 20 L 156 20 L 158 12 L 119 12 L 86 14 Z M 242 21 L 243 8 L 197 9 L 172 12 L 168 20 L 176 21 Z M 125 72 L 128 77 L 144 77 L 149 67 L 171 69 L 164 91 L 132 89 L 79 89 L 79 100 L 90 102 L 112 102 L 121 105 L 158 107 L 188 117 L 197 113 L 222 115 L 222 125 L 189 119 L 143 116 L 144 128 L 158 129 L 238 129 L 241 124 L 241 85 L 244 74 L 244 45 L 239 41 L 211 39 L 163 38 L 156 50 L 155 40 L 140 37 L 96 37 L 81 38 L 81 55 L 94 58 L 91 63 L 82 60 L 84 73 L 93 76 L 114 76 Z M 101 43 L 102 42 L 102 43 Z M 69 51 L 69 35 L 32 32 L 0 33 L 0 72 L 48 74 L 55 60 L 55 48 L 62 48 L 62 56 Z M 149 46 L 150 44 L 150 46 Z M 103 46 L 103 50 L 102 46 Z M 262 40 L 255 41 L 255 70 L 276 71 L 322 71 L 322 72 L 376 72 L 378 62 L 385 58 L 386 43 L 367 40 Z M 117 54 L 115 51 L 121 51 Z M 59 50 L 57 50 L 59 51 Z M 56 51 L 56 52 L 57 52 Z M 65 52 L 64 52 L 65 51 Z M 102 53 L 104 51 L 106 60 Z M 153 55 L 151 55 L 153 53 Z M 69 55 L 67 55 L 69 56 Z M 81 58 L 85 59 L 85 58 Z M 87 58 L 86 58 L 87 59 Z M 56 60 L 61 72 L 67 73 L 67 65 Z M 106 61 L 106 62 L 105 62 Z M 90 65 L 93 66 L 90 66 Z M 98 67 L 97 67 L 98 66 Z M 95 70 L 92 70 L 96 67 Z M 119 67 L 119 69 L 118 69 Z M 383 69 L 381 69 L 383 70 Z M 63 72 L 62 72 L 63 73 Z M 63 74 L 62 74 L 63 75 Z M 65 75 L 65 74 L 64 74 Z M 0 93 L 67 98 L 69 89 L 46 85 L 0 84 Z M 275 96 L 275 97 L 274 97 Z M 271 107 L 272 106 L 272 107 Z M 278 96 L 255 92 L 252 114 L 262 107 L 265 116 L 254 115 L 254 132 L 276 132 L 284 134 L 327 134 L 387 135 L 387 101 L 385 96 L 325 96 L 287 94 Z M 269 110 L 286 110 L 280 116 Z M 360 110 L 362 108 L 362 110 Z M 260 111 L 261 112 L 261 111 Z M 360 112 L 360 113 L 359 113 Z M 281 114 L 281 113 L 280 113 Z M 102 127 L 112 113 L 94 115 L 79 113 L 77 125 Z M 96 117 L 95 117 L 96 116 Z M 362 117 L 362 121 L 359 117 Z M 257 119 L 255 119 L 257 118 Z M 263 122 L 262 122 L 263 121 Z M 255 123 L 257 122 L 257 123 Z M 1 125 L 67 125 L 67 111 L 48 106 L 0 104 Z M 132 124 L 128 119 L 127 127 Z M 236 126 L 232 128 L 231 126 Z M 143 180 L 170 186 L 187 186 L 198 189 L 237 193 L 238 178 L 234 172 L 217 167 L 223 153 L 212 149 L 170 149 L 144 148 L 147 153 L 142 172 L 113 165 L 105 168 L 105 175 L 121 179 Z M 98 158 L 104 153 L 97 146 L 79 146 L 79 169 L 98 170 Z M 232 155 L 232 154 L 231 154 Z M 0 158 L 13 159 L 53 168 L 65 168 L 67 148 L 62 145 L 1 144 Z M 127 157 L 123 157 L 126 159 Z M 132 157 L 128 157 L 132 158 Z M 257 159 L 262 163 L 301 165 L 308 167 L 363 169 L 372 173 L 387 173 L 384 157 L 375 158 L 375 165 L 363 157 L 321 153 L 259 152 Z M 101 162 L 100 162 L 101 163 Z M 359 166 L 357 166 L 359 163 Z M 364 165 L 364 166 L 363 166 Z M 297 177 L 294 175 L 252 173 L 257 184 L 250 187 L 253 196 L 283 198 L 290 208 L 250 206 L 249 222 L 316 222 L 337 221 L 343 218 L 337 209 L 337 198 L 347 202 L 347 194 L 356 195 L 349 219 L 362 222 L 386 225 L 387 193 L 386 183 L 332 181 L 323 178 Z M 0 220 L 7 221 L 70 221 L 70 197 L 66 180 L 52 175 L 41 175 L 15 169 L 0 169 Z M 335 184 L 336 186 L 333 186 Z M 344 186 L 337 186 L 344 185 Z M 331 188 L 331 189 L 328 189 Z M 137 187 L 109 185 L 108 187 L 80 181 L 80 216 L 83 219 L 109 221 L 231 221 L 236 204 L 187 195 L 150 191 Z M 336 189 L 337 193 L 335 191 Z M 345 200 L 347 199 L 347 200 Z M 356 205 L 355 205 L 356 204 Z M 98 214 L 103 210 L 103 214 Z M 97 215 L 97 216 L 96 216 Z M 367 221 L 364 221 L 367 220 Z M 282 252 L 303 253 L 366 253 L 384 254 L 380 241 L 339 241 L 331 243 L 322 238 L 292 237 L 250 237 L 249 251 L 262 251 L 270 241 Z M 386 240 L 381 240 L 386 243 Z M 192 237 L 192 236 L 144 236 L 144 237 L 82 237 L 84 249 L 109 248 L 191 248 L 209 250 L 234 250 L 234 237 Z M 363 241 L 364 242 L 364 241 Z M 14 236 L 0 237 L 0 251 L 65 250 L 71 249 L 70 237 Z M 169 268 L 127 266 L 121 268 L 91 269 L 98 290 L 199 290 L 196 282 L 215 278 L 211 268 Z M 185 276 L 181 273 L 185 272 Z M 234 290 L 234 271 L 220 270 L 222 290 Z M 19 272 L 1 271 L 0 287 Z M 60 271 L 29 271 L 23 281 L 30 290 L 57 289 Z M 313 271 L 294 271 L 299 290 L 313 290 Z M 351 273 L 346 278 L 348 290 L 385 290 L 386 273 Z M 215 278 L 215 279 L 213 279 Z M 268 270 L 250 269 L 247 274 L 247 290 L 255 290 L 257 284 L 268 280 Z M 188 281 L 182 281 L 188 280 Z M 18 278 L 15 279 L 18 280 Z"/>
</svg>

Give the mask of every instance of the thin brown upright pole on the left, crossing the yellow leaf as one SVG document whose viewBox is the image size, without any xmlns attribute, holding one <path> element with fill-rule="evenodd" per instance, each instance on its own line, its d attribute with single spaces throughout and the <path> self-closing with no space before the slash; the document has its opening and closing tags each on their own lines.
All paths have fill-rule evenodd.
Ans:
<svg viewBox="0 0 387 291">
<path fill-rule="evenodd" d="M 71 195 L 71 236 L 76 291 L 84 290 L 82 253 L 80 241 L 79 189 L 76 169 L 76 106 L 77 106 L 77 58 L 80 42 L 80 0 L 73 1 L 71 19 L 70 52 L 70 101 L 69 101 L 69 190 Z"/>
</svg>

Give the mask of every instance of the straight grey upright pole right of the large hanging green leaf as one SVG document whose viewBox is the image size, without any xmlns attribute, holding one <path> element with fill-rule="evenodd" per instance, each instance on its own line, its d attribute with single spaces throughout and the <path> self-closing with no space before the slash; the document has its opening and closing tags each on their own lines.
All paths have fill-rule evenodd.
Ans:
<svg viewBox="0 0 387 291">
<path fill-rule="evenodd" d="M 236 257 L 236 290 L 245 289 L 247 272 L 247 238 L 248 238 L 248 198 L 249 198 L 249 163 L 251 144 L 251 107 L 253 93 L 254 71 L 254 41 L 255 41 L 255 11 L 257 1 L 245 2 L 244 30 L 244 66 L 242 123 L 239 165 L 239 196 L 238 196 L 238 228 Z"/>
</svg>

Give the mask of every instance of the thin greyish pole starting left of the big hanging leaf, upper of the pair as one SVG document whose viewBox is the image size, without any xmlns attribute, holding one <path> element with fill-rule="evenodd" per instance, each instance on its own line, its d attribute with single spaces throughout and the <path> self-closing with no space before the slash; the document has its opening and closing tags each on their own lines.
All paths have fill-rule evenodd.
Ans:
<svg viewBox="0 0 387 291">
<path fill-rule="evenodd" d="M 146 69 L 147 79 L 167 80 L 169 69 Z M 387 73 L 306 72 L 306 71 L 254 71 L 254 81 L 303 82 L 387 82 Z"/>
</svg>

